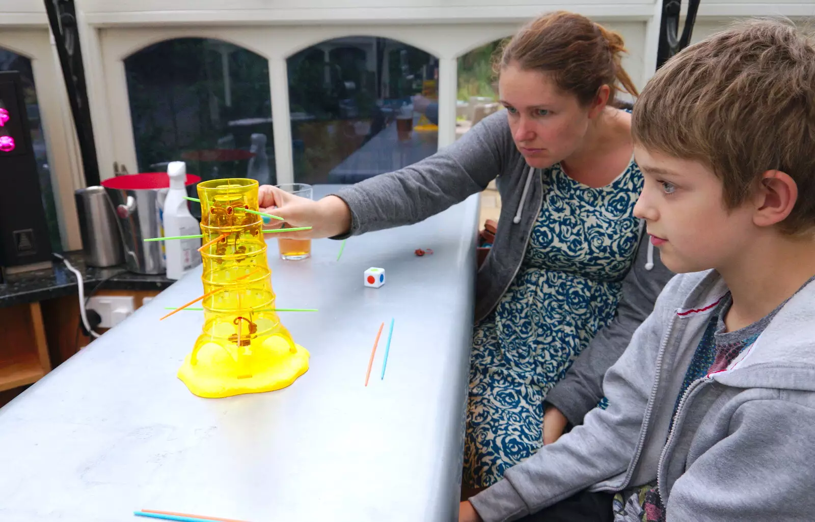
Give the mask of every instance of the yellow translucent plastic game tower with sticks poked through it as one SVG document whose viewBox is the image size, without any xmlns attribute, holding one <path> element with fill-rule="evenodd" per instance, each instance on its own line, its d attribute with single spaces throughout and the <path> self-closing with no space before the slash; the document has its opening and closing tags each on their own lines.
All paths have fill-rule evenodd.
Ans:
<svg viewBox="0 0 815 522">
<path fill-rule="evenodd" d="M 258 182 L 216 179 L 198 185 L 204 274 L 204 331 L 178 378 L 200 397 L 268 392 L 308 370 L 309 353 L 275 314 L 275 292 L 258 210 Z"/>
</svg>

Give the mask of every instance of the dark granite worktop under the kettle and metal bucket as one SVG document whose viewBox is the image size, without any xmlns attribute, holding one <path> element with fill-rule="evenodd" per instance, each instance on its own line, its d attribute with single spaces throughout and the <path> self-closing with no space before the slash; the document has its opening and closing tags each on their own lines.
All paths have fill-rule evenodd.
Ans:
<svg viewBox="0 0 815 522">
<path fill-rule="evenodd" d="M 64 254 L 68 262 L 79 270 L 85 292 L 105 290 L 164 290 L 174 281 L 161 275 L 133 274 L 124 265 L 110 268 L 87 266 L 82 252 Z M 101 287 L 99 283 L 103 283 Z M 98 288 L 97 288 L 98 287 Z M 70 296 L 77 293 L 77 278 L 64 263 L 54 261 L 51 268 L 11 274 L 0 284 L 0 308 L 34 301 Z"/>
</svg>

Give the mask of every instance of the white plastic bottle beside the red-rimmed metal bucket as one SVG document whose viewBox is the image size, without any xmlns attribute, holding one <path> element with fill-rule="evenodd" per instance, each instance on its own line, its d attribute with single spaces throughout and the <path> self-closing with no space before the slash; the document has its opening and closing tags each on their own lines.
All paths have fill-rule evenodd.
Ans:
<svg viewBox="0 0 815 522">
<path fill-rule="evenodd" d="M 198 235 L 200 223 L 192 217 L 187 207 L 185 188 L 187 182 L 187 164 L 173 161 L 167 165 L 167 176 L 170 177 L 170 191 L 164 201 L 164 236 Z M 200 239 L 170 239 L 165 241 L 167 257 L 167 279 L 181 279 L 192 267 L 201 262 L 198 248 Z"/>
</svg>

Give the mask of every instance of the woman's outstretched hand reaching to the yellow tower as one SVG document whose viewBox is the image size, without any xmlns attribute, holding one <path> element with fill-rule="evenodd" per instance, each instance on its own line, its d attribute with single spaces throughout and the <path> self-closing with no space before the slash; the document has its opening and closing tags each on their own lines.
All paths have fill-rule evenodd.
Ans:
<svg viewBox="0 0 815 522">
<path fill-rule="evenodd" d="M 277 237 L 291 239 L 318 239 L 345 234 L 351 225 L 351 211 L 346 202 L 336 195 L 319 201 L 307 200 L 299 195 L 281 191 L 276 186 L 262 185 L 258 189 L 258 207 L 263 213 L 282 217 L 267 223 L 268 230 L 297 226 L 311 226 L 311 230 L 280 232 Z"/>
</svg>

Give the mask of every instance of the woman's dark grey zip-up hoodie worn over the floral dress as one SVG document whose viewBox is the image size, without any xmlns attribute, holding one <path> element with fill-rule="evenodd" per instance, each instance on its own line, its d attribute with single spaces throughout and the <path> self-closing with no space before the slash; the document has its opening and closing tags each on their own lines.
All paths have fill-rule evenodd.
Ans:
<svg viewBox="0 0 815 522">
<path fill-rule="evenodd" d="M 484 190 L 497 178 L 501 213 L 496 241 L 478 270 L 478 321 L 496 307 L 518 273 L 544 200 L 541 175 L 515 147 L 505 112 L 497 112 L 434 156 L 337 191 L 335 195 L 351 211 L 351 229 L 337 239 L 421 222 Z M 601 399 L 602 376 L 628 346 L 673 275 L 659 261 L 643 230 L 637 257 L 623 280 L 614 322 L 597 332 L 571 371 L 548 393 L 548 403 L 573 424 L 582 422 Z"/>
</svg>

